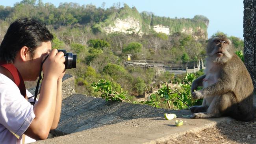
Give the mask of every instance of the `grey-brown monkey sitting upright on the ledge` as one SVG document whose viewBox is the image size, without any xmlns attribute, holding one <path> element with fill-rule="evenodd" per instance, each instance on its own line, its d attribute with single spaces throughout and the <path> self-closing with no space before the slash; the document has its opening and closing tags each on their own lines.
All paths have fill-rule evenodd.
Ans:
<svg viewBox="0 0 256 144">
<path fill-rule="evenodd" d="M 203 88 L 197 90 L 198 86 Z M 192 97 L 203 102 L 189 108 L 194 113 L 190 118 L 230 116 L 248 122 L 254 119 L 253 92 L 250 74 L 234 53 L 232 41 L 226 35 L 209 39 L 204 75 L 191 85 Z"/>
</svg>

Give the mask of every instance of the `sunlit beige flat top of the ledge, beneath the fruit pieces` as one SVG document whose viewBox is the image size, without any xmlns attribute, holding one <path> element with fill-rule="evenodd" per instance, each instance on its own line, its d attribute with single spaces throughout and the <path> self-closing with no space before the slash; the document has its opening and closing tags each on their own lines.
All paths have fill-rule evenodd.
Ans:
<svg viewBox="0 0 256 144">
<path fill-rule="evenodd" d="M 188 110 L 180 111 L 180 114 L 189 114 Z M 184 121 L 184 125 L 176 127 L 175 120 L 165 120 L 163 117 L 139 118 L 127 120 L 95 129 L 88 129 L 70 135 L 52 139 L 41 140 L 35 144 L 156 144 L 171 138 L 184 135 L 187 132 L 197 132 L 205 128 L 215 126 L 219 122 L 230 121 L 230 118 L 217 119 L 189 119 L 178 118 Z M 180 118 L 181 117 L 181 118 Z"/>
</svg>

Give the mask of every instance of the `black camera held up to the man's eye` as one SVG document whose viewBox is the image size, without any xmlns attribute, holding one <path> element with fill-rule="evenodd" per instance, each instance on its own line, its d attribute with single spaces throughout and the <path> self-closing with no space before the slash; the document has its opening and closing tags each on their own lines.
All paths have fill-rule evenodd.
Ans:
<svg viewBox="0 0 256 144">
<path fill-rule="evenodd" d="M 72 53 L 67 53 L 66 50 L 58 50 L 58 52 L 63 52 L 65 57 L 65 69 L 76 68 L 76 55 Z"/>
</svg>

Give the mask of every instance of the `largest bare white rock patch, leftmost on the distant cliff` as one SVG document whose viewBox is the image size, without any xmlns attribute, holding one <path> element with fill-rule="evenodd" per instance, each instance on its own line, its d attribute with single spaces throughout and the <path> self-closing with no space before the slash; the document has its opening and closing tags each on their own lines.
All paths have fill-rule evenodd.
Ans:
<svg viewBox="0 0 256 144">
<path fill-rule="evenodd" d="M 115 26 L 107 26 L 104 28 L 106 33 L 113 33 L 113 32 L 123 32 L 123 33 L 139 33 L 142 35 L 141 27 L 139 26 L 139 21 L 135 20 L 134 18 L 128 17 L 125 19 L 117 18 L 114 22 Z"/>
</svg>

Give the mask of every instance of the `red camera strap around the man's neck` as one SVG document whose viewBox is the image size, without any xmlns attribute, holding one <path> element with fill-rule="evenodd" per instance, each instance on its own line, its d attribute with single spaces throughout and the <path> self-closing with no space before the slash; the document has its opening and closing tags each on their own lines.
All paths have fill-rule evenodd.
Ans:
<svg viewBox="0 0 256 144">
<path fill-rule="evenodd" d="M 5 63 L 2 61 L 0 61 L 0 66 L 6 68 L 11 73 L 14 79 L 14 83 L 20 89 L 20 94 L 26 98 L 26 87 L 18 69 L 12 63 Z"/>
</svg>

